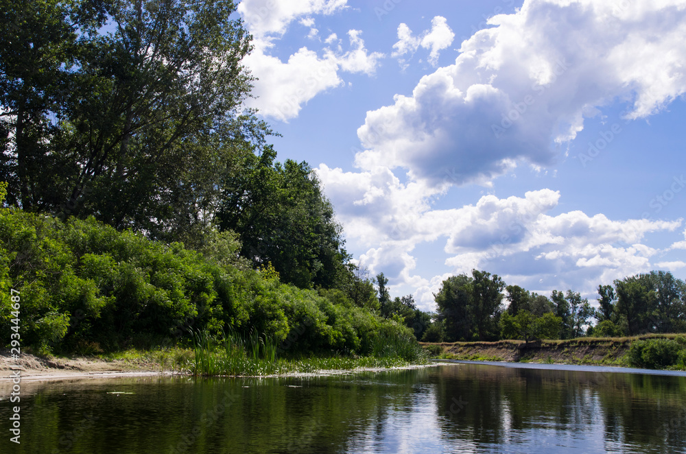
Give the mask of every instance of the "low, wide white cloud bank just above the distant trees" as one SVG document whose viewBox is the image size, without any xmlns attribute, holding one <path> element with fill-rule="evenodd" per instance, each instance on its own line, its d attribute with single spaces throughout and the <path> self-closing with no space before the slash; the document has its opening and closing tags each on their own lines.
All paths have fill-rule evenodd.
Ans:
<svg viewBox="0 0 686 454">
<path fill-rule="evenodd" d="M 384 272 L 392 289 L 415 294 L 421 307 L 433 309 L 433 293 L 451 274 L 488 270 L 532 291 L 581 291 L 593 296 L 608 284 L 655 267 L 678 269 L 661 261 L 666 250 L 646 244 L 652 232 L 674 232 L 683 220 L 608 219 L 558 208 L 560 193 L 530 191 L 523 197 L 483 195 L 460 208 L 431 208 L 432 189 L 401 181 L 389 169 L 345 172 L 320 165 L 318 174 L 345 224 L 348 241 L 366 248 L 360 261 L 372 274 Z M 418 276 L 416 248 L 443 241 L 440 260 L 449 272 Z M 681 242 L 683 243 L 683 242 Z M 681 243 L 674 243 L 678 248 Z"/>
</svg>

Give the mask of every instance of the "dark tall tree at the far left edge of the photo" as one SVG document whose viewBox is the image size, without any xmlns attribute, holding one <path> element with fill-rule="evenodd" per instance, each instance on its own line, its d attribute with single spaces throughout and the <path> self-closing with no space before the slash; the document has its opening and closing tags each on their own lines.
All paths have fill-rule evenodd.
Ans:
<svg viewBox="0 0 686 454">
<path fill-rule="evenodd" d="M 87 36 L 100 25 L 73 21 L 79 3 L 62 0 L 0 1 L 0 126 L 3 136 L 0 178 L 9 182 L 8 202 L 43 208 L 35 192 L 56 178 L 49 141 L 58 128 L 50 121 L 67 101 L 71 68 Z M 95 12 L 95 11 L 94 11 Z M 41 174 L 41 167 L 47 168 Z"/>
</svg>

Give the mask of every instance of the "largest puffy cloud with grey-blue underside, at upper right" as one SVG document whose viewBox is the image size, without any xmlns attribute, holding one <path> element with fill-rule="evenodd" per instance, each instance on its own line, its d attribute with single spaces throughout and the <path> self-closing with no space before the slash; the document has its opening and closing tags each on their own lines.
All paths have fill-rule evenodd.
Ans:
<svg viewBox="0 0 686 454">
<path fill-rule="evenodd" d="M 636 119 L 686 91 L 685 0 L 527 0 L 488 23 L 455 64 L 367 113 L 357 167 L 400 167 L 440 187 L 488 182 L 520 160 L 551 163 L 552 144 L 598 107 L 620 99 Z M 406 27 L 399 36 L 396 54 L 416 47 Z"/>
</svg>

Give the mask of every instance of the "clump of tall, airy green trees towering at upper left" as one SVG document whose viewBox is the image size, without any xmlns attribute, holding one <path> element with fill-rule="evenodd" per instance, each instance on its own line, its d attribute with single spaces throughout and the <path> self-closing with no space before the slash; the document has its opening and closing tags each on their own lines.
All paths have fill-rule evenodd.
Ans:
<svg viewBox="0 0 686 454">
<path fill-rule="evenodd" d="M 235 4 L 16 3 L 0 24 L 0 48 L 23 47 L 0 58 L 1 101 L 17 119 L 5 121 L 10 202 L 167 241 L 206 228 L 228 156 L 269 133 L 241 110 L 251 47 Z"/>
</svg>

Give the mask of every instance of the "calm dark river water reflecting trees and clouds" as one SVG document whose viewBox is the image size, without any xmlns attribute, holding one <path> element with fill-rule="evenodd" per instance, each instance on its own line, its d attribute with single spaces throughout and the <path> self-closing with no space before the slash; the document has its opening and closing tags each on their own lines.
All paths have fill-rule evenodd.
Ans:
<svg viewBox="0 0 686 454">
<path fill-rule="evenodd" d="M 22 384 L 0 453 L 686 453 L 686 377 L 449 364 Z"/>
</svg>

